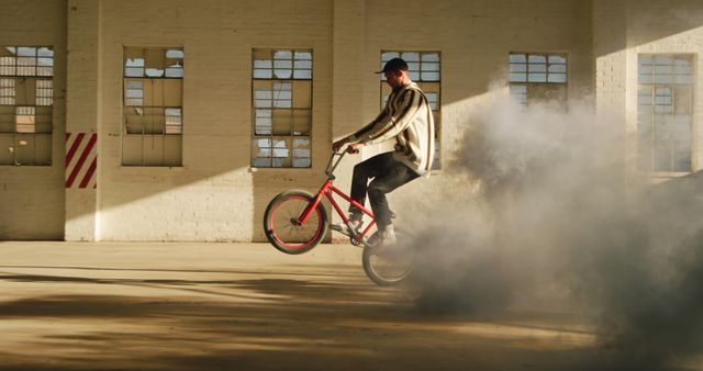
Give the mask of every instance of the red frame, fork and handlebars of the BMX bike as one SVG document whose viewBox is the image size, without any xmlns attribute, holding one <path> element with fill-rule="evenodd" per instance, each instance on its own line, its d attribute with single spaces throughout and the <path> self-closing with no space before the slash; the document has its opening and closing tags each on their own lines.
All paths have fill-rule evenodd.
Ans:
<svg viewBox="0 0 703 371">
<path fill-rule="evenodd" d="M 298 218 L 298 223 L 302 225 L 303 223 L 305 223 L 305 221 L 308 221 L 308 217 L 310 217 L 310 214 L 312 214 L 312 211 L 315 210 L 315 207 L 317 207 L 317 204 L 320 204 L 324 195 L 327 198 L 327 200 L 330 200 L 330 203 L 332 204 L 334 210 L 337 212 L 339 217 L 342 217 L 342 221 L 344 222 L 344 224 L 349 228 L 349 231 L 352 231 L 352 236 L 349 237 L 352 237 L 354 240 L 360 244 L 366 245 L 362 241 L 362 238 L 369 233 L 369 231 L 371 231 L 371 227 L 376 225 L 376 217 L 373 216 L 373 212 L 364 207 L 364 205 L 356 202 L 355 200 L 352 200 L 350 196 L 346 195 L 338 188 L 334 187 L 334 183 L 333 183 L 333 181 L 336 179 L 334 176 L 334 170 L 337 168 L 337 166 L 342 161 L 342 158 L 344 157 L 346 151 L 332 153 L 332 156 L 330 157 L 330 161 L 327 161 L 327 168 L 325 169 L 325 175 L 327 176 L 327 180 L 324 182 L 324 184 L 322 184 L 322 188 L 317 192 L 317 195 L 315 195 L 314 202 L 308 205 L 308 207 L 302 212 L 302 214 Z M 335 156 L 339 156 L 339 158 L 336 161 L 334 161 Z M 369 225 L 367 225 L 361 233 L 356 232 L 355 228 L 352 226 L 352 224 L 349 223 L 349 218 L 346 216 L 342 207 L 339 207 L 339 204 L 337 204 L 337 202 L 335 201 L 334 193 L 336 193 L 338 196 L 343 198 L 349 204 L 360 210 L 364 214 L 371 217 L 371 223 L 369 223 Z"/>
</svg>

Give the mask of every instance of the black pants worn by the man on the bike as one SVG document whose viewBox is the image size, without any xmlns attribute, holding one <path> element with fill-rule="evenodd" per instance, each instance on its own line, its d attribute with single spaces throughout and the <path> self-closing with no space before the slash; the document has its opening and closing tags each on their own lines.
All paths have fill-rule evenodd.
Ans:
<svg viewBox="0 0 703 371">
<path fill-rule="evenodd" d="M 386 193 L 390 193 L 417 177 L 420 176 L 413 169 L 395 160 L 392 153 L 380 154 L 354 167 L 352 199 L 364 204 L 368 192 L 376 223 L 379 228 L 384 228 L 391 224 L 391 210 L 388 206 Z M 370 178 L 373 180 L 369 183 Z M 354 206 L 349 206 L 349 212 L 353 214 L 361 213 Z"/>
</svg>

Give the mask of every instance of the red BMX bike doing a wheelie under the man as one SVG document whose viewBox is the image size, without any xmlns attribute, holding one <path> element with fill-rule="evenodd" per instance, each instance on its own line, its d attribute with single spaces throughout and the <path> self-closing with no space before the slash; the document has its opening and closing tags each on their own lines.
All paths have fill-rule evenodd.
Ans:
<svg viewBox="0 0 703 371">
<path fill-rule="evenodd" d="M 286 254 L 303 254 L 313 249 L 327 232 L 327 212 L 322 198 L 325 196 L 344 222 L 343 225 L 330 225 L 332 231 L 349 237 L 349 241 L 364 248 L 362 266 L 366 274 L 379 285 L 393 285 L 403 281 L 415 261 L 416 250 L 412 246 L 411 236 L 403 229 L 395 228 L 397 243 L 391 246 L 377 246 L 373 233 L 376 220 L 373 213 L 364 205 L 352 200 L 334 187 L 334 170 L 346 151 L 333 151 L 325 169 L 327 180 L 316 195 L 301 190 L 290 190 L 278 194 L 266 207 L 264 231 L 266 238 L 277 249 Z M 346 213 L 335 201 L 337 194 L 346 202 L 355 205 L 370 223 L 358 231 L 349 223 Z"/>
</svg>

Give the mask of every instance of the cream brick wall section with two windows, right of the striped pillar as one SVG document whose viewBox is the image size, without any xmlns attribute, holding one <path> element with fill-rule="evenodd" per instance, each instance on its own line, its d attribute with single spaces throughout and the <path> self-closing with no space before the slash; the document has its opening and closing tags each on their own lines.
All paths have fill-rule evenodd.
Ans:
<svg viewBox="0 0 703 371">
<path fill-rule="evenodd" d="M 103 3 L 102 239 L 263 239 L 266 204 L 322 179 L 331 140 L 333 2 Z M 182 46 L 183 166 L 120 166 L 122 49 Z M 249 169 L 252 48 L 313 49 L 313 169 Z"/>
</svg>

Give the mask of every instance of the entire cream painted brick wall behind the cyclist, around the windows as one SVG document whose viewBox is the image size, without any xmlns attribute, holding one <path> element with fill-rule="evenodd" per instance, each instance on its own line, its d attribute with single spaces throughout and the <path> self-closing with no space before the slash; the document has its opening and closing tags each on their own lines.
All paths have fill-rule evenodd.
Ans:
<svg viewBox="0 0 703 371">
<path fill-rule="evenodd" d="M 699 3 L 435 0 L 398 8 L 370 0 L 123 0 L 100 1 L 96 31 L 90 24 L 86 30 L 80 23 L 67 27 L 67 1 L 8 0 L 0 13 L 0 40 L 49 43 L 57 49 L 55 161 L 43 168 L 0 168 L 0 238 L 62 238 L 69 224 L 63 189 L 67 29 L 69 41 L 99 35 L 97 54 L 83 50 L 99 58 L 88 60 L 98 81 L 87 77 L 81 85 L 96 88 L 78 89 L 80 81 L 74 86 L 77 94 L 97 102 L 71 113 L 74 125 L 85 121 L 94 125 L 87 130 L 100 133 L 98 212 L 88 222 L 96 238 L 246 241 L 263 240 L 263 213 L 275 194 L 291 188 L 316 190 L 333 138 L 378 113 L 379 79 L 372 71 L 382 49 L 442 53 L 442 155 L 450 160 L 461 150 L 460 135 L 476 108 L 507 97 L 510 52 L 567 53 L 570 99 L 592 102 L 595 95 L 595 106 L 616 112 L 624 131 L 632 132 L 637 53 L 699 53 Z M 120 165 L 124 46 L 186 50 L 182 167 Z M 314 50 L 312 169 L 249 168 L 252 48 Z M 77 59 L 70 68 L 80 71 Z M 698 95 L 702 86 L 696 85 Z M 699 100 L 695 122 L 701 122 L 701 109 Z M 91 124 L 92 119 L 81 117 L 97 119 Z M 696 137 L 696 148 L 700 143 Z M 701 156 L 696 150 L 698 167 Z M 354 161 L 346 161 L 339 173 L 349 173 Z M 410 200 L 429 200 L 450 177 L 445 169 L 406 186 L 391 195 L 393 209 L 402 213 L 412 209 Z M 338 184 L 346 189 L 348 177 Z M 422 204 L 414 207 L 422 210 Z"/>
</svg>

